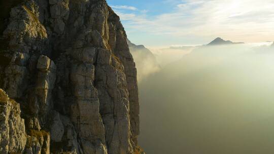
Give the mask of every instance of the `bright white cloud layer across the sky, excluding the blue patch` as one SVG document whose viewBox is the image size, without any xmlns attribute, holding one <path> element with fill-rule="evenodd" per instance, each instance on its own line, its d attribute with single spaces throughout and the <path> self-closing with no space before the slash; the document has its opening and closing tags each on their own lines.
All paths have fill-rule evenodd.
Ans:
<svg viewBox="0 0 274 154">
<path fill-rule="evenodd" d="M 172 2 L 173 0 L 168 0 Z M 178 1 L 177 1 L 178 2 Z M 233 41 L 271 40 L 274 35 L 274 1 L 207 0 L 179 1 L 173 11 L 158 15 L 117 12 L 131 32 L 160 34 L 166 37 L 215 36 Z"/>
</svg>

